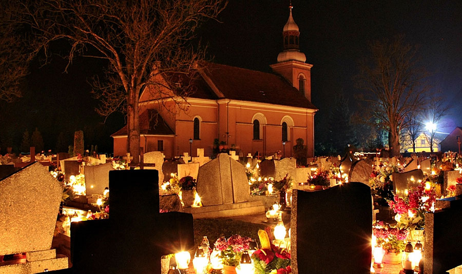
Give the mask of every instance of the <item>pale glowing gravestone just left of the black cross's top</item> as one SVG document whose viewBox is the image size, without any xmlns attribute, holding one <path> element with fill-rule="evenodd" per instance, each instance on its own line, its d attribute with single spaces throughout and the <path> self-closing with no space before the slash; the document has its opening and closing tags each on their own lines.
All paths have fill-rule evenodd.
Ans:
<svg viewBox="0 0 462 274">
<path fill-rule="evenodd" d="M 104 189 L 109 187 L 109 171 L 114 170 L 111 163 L 85 166 L 86 194 L 103 194 Z"/>
</svg>

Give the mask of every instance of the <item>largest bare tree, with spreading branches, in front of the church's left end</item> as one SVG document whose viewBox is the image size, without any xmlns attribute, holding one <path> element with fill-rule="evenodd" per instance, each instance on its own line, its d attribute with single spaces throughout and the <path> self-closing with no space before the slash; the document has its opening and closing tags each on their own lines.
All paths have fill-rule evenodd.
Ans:
<svg viewBox="0 0 462 274">
<path fill-rule="evenodd" d="M 106 77 L 95 79 L 102 115 L 127 113 L 128 150 L 140 154 L 139 97 L 143 89 L 159 98 L 182 97 L 166 75 L 190 74 L 204 57 L 195 30 L 216 18 L 224 0 L 36 0 L 24 2 L 22 21 L 36 37 L 33 49 L 47 53 L 50 42 L 67 40 L 69 64 L 78 54 L 107 60 Z M 169 90 L 169 92 L 165 92 Z"/>
</svg>

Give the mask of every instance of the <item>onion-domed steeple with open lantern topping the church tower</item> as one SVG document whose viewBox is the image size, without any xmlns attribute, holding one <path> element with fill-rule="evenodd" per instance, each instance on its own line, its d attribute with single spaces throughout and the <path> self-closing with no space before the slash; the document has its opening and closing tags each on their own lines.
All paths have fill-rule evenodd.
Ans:
<svg viewBox="0 0 462 274">
<path fill-rule="evenodd" d="M 295 24 L 294 18 L 292 17 L 292 3 L 289 6 L 289 17 L 287 23 L 285 23 L 284 28 L 282 29 L 283 37 L 283 51 L 278 55 L 278 62 L 285 61 L 300 61 L 305 62 L 306 57 L 303 52 L 300 52 L 300 32 L 298 31 L 298 26 Z"/>
</svg>

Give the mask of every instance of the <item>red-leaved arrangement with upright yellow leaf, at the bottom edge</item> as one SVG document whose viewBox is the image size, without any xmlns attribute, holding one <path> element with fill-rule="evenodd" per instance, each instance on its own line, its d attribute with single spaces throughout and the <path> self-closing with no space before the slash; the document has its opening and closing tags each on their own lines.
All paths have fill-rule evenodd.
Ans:
<svg viewBox="0 0 462 274">
<path fill-rule="evenodd" d="M 252 255 L 256 274 L 290 274 L 291 253 L 273 245 L 265 230 L 258 230 L 261 248 Z"/>
</svg>

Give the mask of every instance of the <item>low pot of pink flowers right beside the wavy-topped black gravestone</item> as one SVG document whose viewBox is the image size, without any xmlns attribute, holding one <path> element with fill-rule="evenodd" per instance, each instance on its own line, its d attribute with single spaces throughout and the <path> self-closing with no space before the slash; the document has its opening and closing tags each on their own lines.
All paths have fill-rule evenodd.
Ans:
<svg viewBox="0 0 462 274">
<path fill-rule="evenodd" d="M 377 246 L 381 246 L 387 253 L 399 253 L 405 249 L 409 231 L 406 228 L 390 227 L 380 221 L 372 228 L 372 233 L 376 237 Z"/>
</svg>

